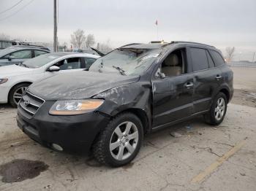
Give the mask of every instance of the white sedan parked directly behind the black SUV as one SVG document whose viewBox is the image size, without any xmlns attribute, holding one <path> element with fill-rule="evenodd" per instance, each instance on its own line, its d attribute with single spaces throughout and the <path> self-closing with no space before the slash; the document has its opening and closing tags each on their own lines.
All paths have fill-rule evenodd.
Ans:
<svg viewBox="0 0 256 191">
<path fill-rule="evenodd" d="M 89 69 L 97 55 L 55 52 L 39 55 L 23 63 L 0 67 L 0 104 L 17 106 L 31 83 L 55 74 Z"/>
</svg>

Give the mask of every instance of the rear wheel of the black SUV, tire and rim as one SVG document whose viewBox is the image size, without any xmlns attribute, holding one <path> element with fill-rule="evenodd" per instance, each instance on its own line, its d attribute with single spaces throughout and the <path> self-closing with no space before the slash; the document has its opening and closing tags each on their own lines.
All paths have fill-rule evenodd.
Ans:
<svg viewBox="0 0 256 191">
<path fill-rule="evenodd" d="M 227 97 L 224 93 L 220 92 L 215 96 L 208 114 L 204 115 L 205 121 L 210 125 L 219 125 L 224 120 L 226 112 Z"/>
</svg>

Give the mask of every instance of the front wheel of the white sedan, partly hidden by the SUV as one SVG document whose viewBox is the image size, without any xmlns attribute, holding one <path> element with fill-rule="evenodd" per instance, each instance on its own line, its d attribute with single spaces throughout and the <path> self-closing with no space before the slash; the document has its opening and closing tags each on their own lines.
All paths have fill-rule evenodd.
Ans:
<svg viewBox="0 0 256 191">
<path fill-rule="evenodd" d="M 29 85 L 30 84 L 28 83 L 21 83 L 12 87 L 8 96 L 9 104 L 11 104 L 13 107 L 17 107 L 19 99 Z"/>
</svg>

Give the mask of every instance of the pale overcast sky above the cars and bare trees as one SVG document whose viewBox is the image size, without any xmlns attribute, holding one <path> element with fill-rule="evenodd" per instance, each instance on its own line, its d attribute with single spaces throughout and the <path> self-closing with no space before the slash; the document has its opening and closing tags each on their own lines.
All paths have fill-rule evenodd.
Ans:
<svg viewBox="0 0 256 191">
<path fill-rule="evenodd" d="M 164 39 L 211 44 L 224 55 L 236 47 L 234 60 L 256 52 L 255 0 L 60 0 L 58 15 L 60 44 L 80 28 L 113 48 Z M 0 34 L 53 42 L 53 0 L 0 0 Z"/>
</svg>

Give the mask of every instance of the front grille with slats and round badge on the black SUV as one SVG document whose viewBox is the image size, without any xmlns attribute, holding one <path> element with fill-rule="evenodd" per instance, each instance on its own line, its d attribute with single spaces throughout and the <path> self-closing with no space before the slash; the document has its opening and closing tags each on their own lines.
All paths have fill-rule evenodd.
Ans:
<svg viewBox="0 0 256 191">
<path fill-rule="evenodd" d="M 37 113 L 37 110 L 44 104 L 45 101 L 42 98 L 33 95 L 32 93 L 26 92 L 20 99 L 19 107 L 23 114 L 27 118 L 31 118 Z"/>
</svg>

